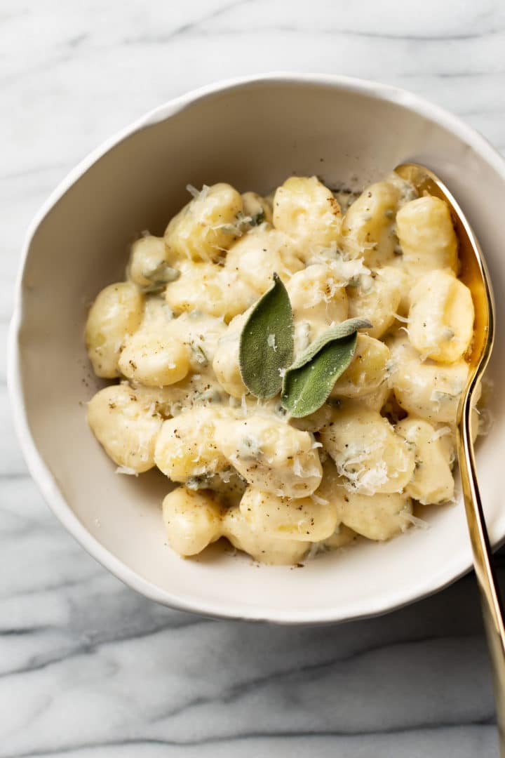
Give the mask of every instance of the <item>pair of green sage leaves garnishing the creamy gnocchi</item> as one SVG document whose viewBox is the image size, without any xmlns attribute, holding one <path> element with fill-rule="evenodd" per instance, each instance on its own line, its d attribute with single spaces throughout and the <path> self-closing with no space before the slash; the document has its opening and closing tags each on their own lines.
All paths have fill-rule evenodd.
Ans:
<svg viewBox="0 0 505 758">
<path fill-rule="evenodd" d="M 307 416 L 323 405 L 351 363 L 357 331 L 372 325 L 366 318 L 335 324 L 292 363 L 291 303 L 284 284 L 273 274 L 273 286 L 258 300 L 240 335 L 240 373 L 245 386 L 262 399 L 280 392 L 282 406 L 291 416 Z"/>
</svg>

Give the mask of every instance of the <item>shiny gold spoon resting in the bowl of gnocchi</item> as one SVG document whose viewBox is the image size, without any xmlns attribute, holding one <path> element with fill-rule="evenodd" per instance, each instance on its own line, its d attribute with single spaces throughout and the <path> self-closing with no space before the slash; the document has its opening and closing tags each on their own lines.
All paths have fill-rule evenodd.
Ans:
<svg viewBox="0 0 505 758">
<path fill-rule="evenodd" d="M 433 195 L 447 202 L 459 242 L 460 279 L 469 287 L 475 305 L 474 338 L 468 357 L 469 377 L 457 413 L 457 450 L 466 520 L 472 543 L 473 564 L 481 593 L 482 613 L 491 656 L 494 698 L 500 740 L 500 756 L 505 758 L 505 629 L 500 591 L 492 565 L 491 545 L 486 529 L 479 486 L 475 474 L 471 423 L 472 400 L 488 365 L 494 340 L 494 300 L 488 269 L 475 234 L 463 211 L 447 187 L 432 171 L 416 163 L 394 169 L 416 187 L 419 196 Z"/>
</svg>

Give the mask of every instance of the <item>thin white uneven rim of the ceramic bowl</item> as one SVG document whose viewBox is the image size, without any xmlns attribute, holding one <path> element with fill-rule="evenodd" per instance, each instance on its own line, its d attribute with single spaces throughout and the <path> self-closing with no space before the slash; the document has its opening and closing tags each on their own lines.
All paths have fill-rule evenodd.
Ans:
<svg viewBox="0 0 505 758">
<path fill-rule="evenodd" d="M 338 74 L 297 74 L 290 71 L 275 71 L 270 74 L 253 75 L 247 77 L 234 77 L 226 80 L 220 80 L 206 86 L 198 87 L 169 100 L 163 105 L 148 111 L 132 124 L 123 128 L 114 136 L 104 140 L 97 148 L 89 152 L 82 161 L 73 168 L 58 186 L 51 192 L 48 199 L 42 203 L 41 208 L 36 213 L 33 221 L 30 223 L 23 241 L 21 249 L 20 263 L 17 271 L 17 277 L 14 285 L 14 309 L 11 317 L 11 324 L 8 333 L 8 393 L 11 400 L 11 410 L 14 420 L 14 431 L 17 440 L 20 443 L 21 451 L 26 461 L 27 468 L 31 477 L 39 488 L 45 502 L 51 511 L 55 514 L 62 525 L 70 532 L 76 541 L 124 584 L 132 587 L 140 594 L 161 603 L 164 606 L 178 609 L 181 611 L 198 613 L 213 618 L 220 619 L 240 619 L 257 622 L 274 622 L 280 624 L 306 624 L 321 625 L 329 623 L 339 623 L 355 619 L 365 619 L 376 615 L 382 615 L 391 612 L 394 609 L 401 608 L 410 603 L 422 600 L 435 592 L 447 587 L 453 581 L 460 578 L 461 575 L 469 571 L 472 566 L 469 550 L 462 550 L 458 556 L 452 556 L 450 561 L 444 562 L 441 569 L 434 575 L 430 575 L 429 582 L 419 582 L 415 587 L 407 590 L 391 590 L 387 595 L 380 595 L 373 603 L 368 602 L 366 607 L 360 606 L 359 600 L 355 601 L 354 607 L 346 610 L 338 606 L 329 604 L 324 609 L 311 609 L 298 611 L 296 609 L 272 609 L 265 606 L 244 607 L 238 612 L 234 609 L 232 603 L 226 605 L 226 601 L 206 601 L 206 600 L 188 600 L 180 594 L 174 594 L 168 590 L 162 590 L 151 584 L 145 578 L 129 568 L 119 558 L 114 556 L 106 547 L 103 547 L 98 540 L 86 529 L 74 514 L 70 505 L 64 498 L 63 493 L 58 487 L 57 481 L 49 471 L 42 459 L 42 455 L 36 447 L 30 431 L 30 424 L 26 414 L 26 408 L 23 400 L 23 390 L 21 384 L 20 371 L 20 330 L 23 325 L 23 272 L 26 265 L 30 246 L 33 236 L 45 216 L 56 202 L 79 180 L 83 174 L 105 153 L 145 127 L 157 124 L 170 118 L 174 114 L 182 111 L 190 105 L 203 99 L 211 98 L 217 93 L 231 92 L 234 89 L 248 88 L 250 86 L 261 85 L 263 83 L 279 84 L 309 84 L 313 86 L 330 86 L 335 89 L 363 94 L 373 99 L 379 99 L 385 102 L 396 103 L 409 111 L 413 111 L 431 121 L 435 121 L 442 127 L 447 128 L 451 133 L 459 136 L 466 141 L 475 152 L 491 164 L 492 168 L 505 182 L 505 161 L 502 156 L 488 140 L 482 136 L 473 127 L 470 127 L 459 117 L 435 105 L 421 96 L 413 94 L 406 89 L 396 86 L 382 84 L 373 80 L 363 80 L 354 77 L 345 77 Z M 505 538 L 505 534 L 501 540 Z M 347 606 L 348 607 L 348 606 Z"/>
</svg>

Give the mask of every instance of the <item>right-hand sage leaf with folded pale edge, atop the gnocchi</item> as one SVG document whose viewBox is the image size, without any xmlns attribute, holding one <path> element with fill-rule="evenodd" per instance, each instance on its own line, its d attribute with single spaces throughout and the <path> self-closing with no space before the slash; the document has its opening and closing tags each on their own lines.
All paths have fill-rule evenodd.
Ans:
<svg viewBox="0 0 505 758">
<path fill-rule="evenodd" d="M 330 327 L 288 368 L 281 401 L 293 418 L 307 416 L 323 405 L 354 357 L 357 330 L 371 326 L 365 318 L 349 318 Z"/>
</svg>

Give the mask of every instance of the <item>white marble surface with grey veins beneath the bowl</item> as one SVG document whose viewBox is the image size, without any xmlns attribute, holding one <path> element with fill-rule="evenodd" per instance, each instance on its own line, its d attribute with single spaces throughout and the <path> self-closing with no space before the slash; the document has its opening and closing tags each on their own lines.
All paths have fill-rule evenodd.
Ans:
<svg viewBox="0 0 505 758">
<path fill-rule="evenodd" d="M 101 140 L 192 87 L 269 70 L 369 77 L 505 151 L 503 4 L 2 0 L 0 60 L 0 758 L 497 755 L 471 576 L 334 628 L 149 603 L 74 543 L 30 481 L 3 345 L 36 208 Z"/>
</svg>

